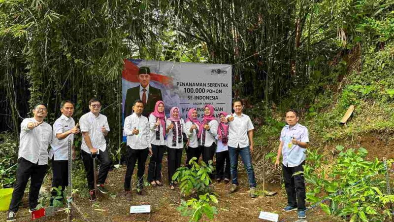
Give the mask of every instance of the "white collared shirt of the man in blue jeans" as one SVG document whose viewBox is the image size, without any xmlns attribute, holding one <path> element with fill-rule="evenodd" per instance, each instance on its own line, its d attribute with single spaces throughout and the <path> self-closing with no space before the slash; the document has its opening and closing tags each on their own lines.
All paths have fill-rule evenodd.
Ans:
<svg viewBox="0 0 394 222">
<path fill-rule="evenodd" d="M 230 116 L 231 115 L 227 115 L 226 119 Z M 250 117 L 244 113 L 241 113 L 240 116 L 232 113 L 232 116 L 234 116 L 234 120 L 231 122 L 229 121 L 229 142 L 227 145 L 234 148 L 237 148 L 238 146 L 239 148 L 248 147 L 248 131 L 255 129 L 252 120 L 250 120 Z"/>
</svg>

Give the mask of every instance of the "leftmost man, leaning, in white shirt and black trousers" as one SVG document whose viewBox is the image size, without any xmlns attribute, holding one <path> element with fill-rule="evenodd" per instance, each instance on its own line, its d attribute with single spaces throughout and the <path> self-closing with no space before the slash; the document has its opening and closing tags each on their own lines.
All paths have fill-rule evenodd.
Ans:
<svg viewBox="0 0 394 222">
<path fill-rule="evenodd" d="M 33 118 L 26 118 L 21 123 L 19 137 L 18 167 L 12 199 L 7 213 L 7 222 L 16 220 L 16 212 L 22 201 L 23 193 L 29 181 L 29 212 L 37 206 L 38 194 L 48 164 L 48 146 L 52 140 L 52 127 L 44 122 L 47 108 L 38 104 L 33 109 Z"/>
</svg>

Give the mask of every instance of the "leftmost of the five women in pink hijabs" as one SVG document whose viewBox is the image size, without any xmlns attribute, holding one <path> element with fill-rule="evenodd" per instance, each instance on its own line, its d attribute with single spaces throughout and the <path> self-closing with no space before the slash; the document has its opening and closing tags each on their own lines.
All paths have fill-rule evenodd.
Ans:
<svg viewBox="0 0 394 222">
<path fill-rule="evenodd" d="M 152 145 L 152 157 L 148 168 L 148 182 L 153 187 L 163 186 L 160 182 L 162 160 L 165 151 L 165 112 L 164 102 L 159 100 L 156 102 L 155 111 L 149 115 L 149 127 Z"/>
</svg>

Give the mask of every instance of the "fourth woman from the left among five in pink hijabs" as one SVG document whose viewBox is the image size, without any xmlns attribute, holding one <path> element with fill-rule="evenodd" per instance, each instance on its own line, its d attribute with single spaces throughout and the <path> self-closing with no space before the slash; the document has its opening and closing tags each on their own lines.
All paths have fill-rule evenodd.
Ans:
<svg viewBox="0 0 394 222">
<path fill-rule="evenodd" d="M 202 148 L 202 160 L 208 164 L 213 159 L 216 150 L 216 135 L 218 134 L 218 121 L 213 116 L 214 109 L 212 105 L 206 105 L 204 108 L 204 118 L 201 122 L 198 132 L 200 146 Z"/>
</svg>

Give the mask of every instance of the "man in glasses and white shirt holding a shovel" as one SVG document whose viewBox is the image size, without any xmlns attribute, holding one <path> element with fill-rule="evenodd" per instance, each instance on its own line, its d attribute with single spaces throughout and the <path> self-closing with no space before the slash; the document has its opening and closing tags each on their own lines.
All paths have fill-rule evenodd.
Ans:
<svg viewBox="0 0 394 222">
<path fill-rule="evenodd" d="M 108 193 L 104 187 L 107 179 L 108 171 L 111 167 L 111 159 L 106 149 L 106 141 L 104 136 L 108 135 L 109 125 L 107 117 L 100 114 L 101 102 L 93 98 L 89 101 L 90 112 L 84 114 L 79 119 L 79 126 L 82 132 L 81 155 L 85 171 L 87 175 L 88 186 L 90 189 L 90 200 L 96 200 L 95 189 L 99 189 L 101 193 Z M 100 161 L 99 176 L 97 179 L 97 187 L 95 187 L 93 158 L 97 155 Z"/>
</svg>

